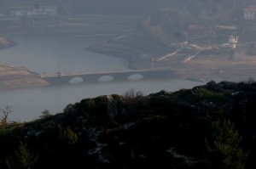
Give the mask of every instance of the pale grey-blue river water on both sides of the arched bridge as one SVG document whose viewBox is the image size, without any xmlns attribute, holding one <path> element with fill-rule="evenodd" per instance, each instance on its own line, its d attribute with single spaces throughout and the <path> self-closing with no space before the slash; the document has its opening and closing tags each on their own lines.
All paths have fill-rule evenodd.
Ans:
<svg viewBox="0 0 256 169">
<path fill-rule="evenodd" d="M 37 73 L 84 73 L 129 70 L 124 59 L 89 53 L 84 50 L 97 38 L 60 36 L 12 36 L 18 46 L 0 51 L 0 61 L 25 66 Z M 203 85 L 183 79 L 141 80 L 126 82 L 95 82 L 63 86 L 30 87 L 0 91 L 0 108 L 11 107 L 9 121 L 32 121 L 49 110 L 61 112 L 67 104 L 105 94 L 124 94 L 131 88 L 144 94 L 160 90 L 177 91 Z"/>
</svg>

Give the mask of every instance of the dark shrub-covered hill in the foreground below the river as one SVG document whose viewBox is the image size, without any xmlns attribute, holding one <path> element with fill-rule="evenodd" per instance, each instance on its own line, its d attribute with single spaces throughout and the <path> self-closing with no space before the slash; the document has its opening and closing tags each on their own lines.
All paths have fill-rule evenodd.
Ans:
<svg viewBox="0 0 256 169">
<path fill-rule="evenodd" d="M 255 168 L 255 82 L 108 95 L 2 121 L 0 168 Z"/>
</svg>

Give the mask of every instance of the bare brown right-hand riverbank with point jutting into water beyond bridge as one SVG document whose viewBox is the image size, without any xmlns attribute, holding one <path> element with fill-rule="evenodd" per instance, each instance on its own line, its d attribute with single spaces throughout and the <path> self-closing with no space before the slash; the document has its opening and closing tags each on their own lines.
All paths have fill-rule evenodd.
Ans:
<svg viewBox="0 0 256 169">
<path fill-rule="evenodd" d="M 154 52 L 147 50 L 148 53 L 143 53 L 142 48 L 139 50 L 138 47 L 135 47 L 136 44 L 132 45 L 128 39 L 124 37 L 123 40 L 98 42 L 86 49 L 99 54 L 109 54 L 127 59 L 131 69 L 171 68 L 177 77 L 189 81 L 241 82 L 256 79 L 256 57 L 247 54 L 247 48 L 236 48 L 234 54 L 229 52 L 217 54 L 205 52 L 205 54 L 201 52 L 194 57 L 196 50 L 175 53 L 172 48 L 169 48 L 162 50 L 162 53 L 159 52 L 161 51 L 159 49 Z M 127 45 L 128 42 L 130 45 Z M 144 48 L 149 48 L 149 44 L 148 42 Z M 132 49 L 132 46 L 135 48 Z M 160 59 L 165 55 L 170 56 Z"/>
</svg>

